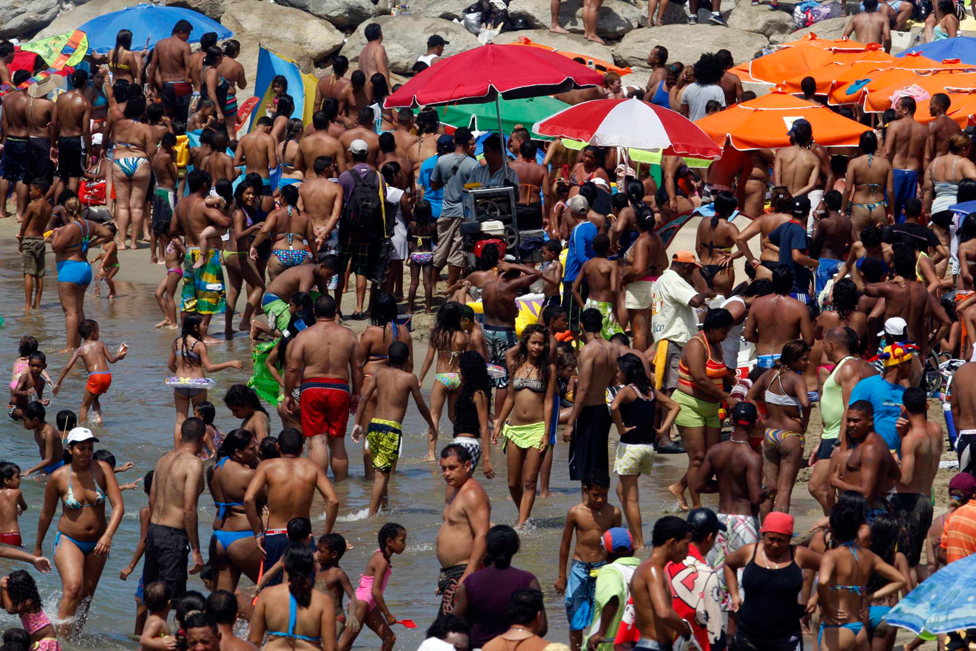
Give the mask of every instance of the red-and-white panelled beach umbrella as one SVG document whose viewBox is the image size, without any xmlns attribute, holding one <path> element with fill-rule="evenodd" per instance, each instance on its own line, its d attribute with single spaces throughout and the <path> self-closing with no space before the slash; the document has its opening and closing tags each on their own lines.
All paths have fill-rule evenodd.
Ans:
<svg viewBox="0 0 976 651">
<path fill-rule="evenodd" d="M 564 108 L 532 130 L 598 146 L 660 149 L 674 156 L 717 159 L 722 149 L 694 122 L 669 108 L 630 100 L 590 100 Z"/>
</svg>

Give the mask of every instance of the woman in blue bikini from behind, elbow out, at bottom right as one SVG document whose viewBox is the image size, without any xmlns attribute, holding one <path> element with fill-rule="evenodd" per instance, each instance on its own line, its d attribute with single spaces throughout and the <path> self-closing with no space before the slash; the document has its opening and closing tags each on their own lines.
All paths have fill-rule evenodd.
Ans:
<svg viewBox="0 0 976 651">
<path fill-rule="evenodd" d="M 838 503 L 831 509 L 831 535 L 836 549 L 821 556 L 817 575 L 820 651 L 853 651 L 863 645 L 868 631 L 864 631 L 861 622 L 862 608 L 905 587 L 901 572 L 870 549 L 858 547 L 858 530 L 863 523 L 854 505 Z M 889 583 L 868 592 L 866 586 L 873 573 Z"/>
</svg>

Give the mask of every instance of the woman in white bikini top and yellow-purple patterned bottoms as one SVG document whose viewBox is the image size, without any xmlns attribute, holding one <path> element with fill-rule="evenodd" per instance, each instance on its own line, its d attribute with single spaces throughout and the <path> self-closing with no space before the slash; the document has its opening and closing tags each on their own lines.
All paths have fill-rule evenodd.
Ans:
<svg viewBox="0 0 976 651">
<path fill-rule="evenodd" d="M 764 399 L 769 416 L 762 441 L 763 476 L 769 500 L 759 509 L 790 511 L 796 473 L 803 464 L 803 432 L 810 420 L 810 398 L 803 373 L 810 365 L 810 346 L 802 340 L 787 342 L 774 368 L 763 373 L 746 396 Z"/>
</svg>

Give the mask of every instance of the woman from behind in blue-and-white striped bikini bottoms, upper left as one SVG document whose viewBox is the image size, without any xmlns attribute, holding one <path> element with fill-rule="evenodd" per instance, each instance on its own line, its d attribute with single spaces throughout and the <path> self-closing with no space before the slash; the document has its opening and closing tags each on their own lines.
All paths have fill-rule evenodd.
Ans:
<svg viewBox="0 0 976 651">
<path fill-rule="evenodd" d="M 109 94 L 108 102 L 115 102 Z M 145 112 L 142 97 L 125 103 L 123 119 L 112 127 L 115 157 L 112 160 L 112 184 L 115 187 L 115 219 L 118 222 L 119 251 L 125 251 L 129 223 L 132 222 L 132 248 L 137 249 L 142 236 L 145 195 L 149 189 L 152 166 L 149 159 L 156 153 L 152 128 L 141 122 Z"/>
</svg>

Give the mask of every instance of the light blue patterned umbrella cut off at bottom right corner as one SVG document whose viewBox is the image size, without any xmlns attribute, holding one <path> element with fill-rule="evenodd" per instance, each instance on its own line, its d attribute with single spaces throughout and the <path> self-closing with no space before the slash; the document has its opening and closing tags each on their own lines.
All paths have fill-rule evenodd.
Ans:
<svg viewBox="0 0 976 651">
<path fill-rule="evenodd" d="M 919 633 L 976 628 L 976 555 L 950 563 L 905 595 L 887 615 L 888 624 Z"/>
</svg>

